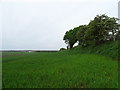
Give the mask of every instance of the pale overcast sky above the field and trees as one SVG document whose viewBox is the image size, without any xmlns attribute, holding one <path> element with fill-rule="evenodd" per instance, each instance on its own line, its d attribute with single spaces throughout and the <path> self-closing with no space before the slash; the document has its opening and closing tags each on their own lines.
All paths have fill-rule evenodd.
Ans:
<svg viewBox="0 0 120 90">
<path fill-rule="evenodd" d="M 16 1 L 0 3 L 0 49 L 59 50 L 66 47 L 66 31 L 88 24 L 98 14 L 118 17 L 119 0 Z"/>
</svg>

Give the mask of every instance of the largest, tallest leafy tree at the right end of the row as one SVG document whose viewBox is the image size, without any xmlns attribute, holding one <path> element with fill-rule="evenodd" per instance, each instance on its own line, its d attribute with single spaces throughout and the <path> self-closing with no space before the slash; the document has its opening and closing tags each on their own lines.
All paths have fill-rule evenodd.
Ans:
<svg viewBox="0 0 120 90">
<path fill-rule="evenodd" d="M 106 41 L 110 36 L 110 32 L 112 32 L 112 37 L 114 38 L 118 26 L 116 18 L 110 18 L 105 14 L 97 15 L 94 20 L 88 24 L 89 28 L 86 36 L 97 45 Z"/>
</svg>

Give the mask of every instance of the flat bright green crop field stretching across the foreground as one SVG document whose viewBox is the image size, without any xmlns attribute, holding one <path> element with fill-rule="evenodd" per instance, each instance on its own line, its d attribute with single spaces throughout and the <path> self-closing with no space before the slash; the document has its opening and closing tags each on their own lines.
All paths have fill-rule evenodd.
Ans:
<svg viewBox="0 0 120 90">
<path fill-rule="evenodd" d="M 3 52 L 3 88 L 118 88 L 118 63 L 96 54 Z"/>
</svg>

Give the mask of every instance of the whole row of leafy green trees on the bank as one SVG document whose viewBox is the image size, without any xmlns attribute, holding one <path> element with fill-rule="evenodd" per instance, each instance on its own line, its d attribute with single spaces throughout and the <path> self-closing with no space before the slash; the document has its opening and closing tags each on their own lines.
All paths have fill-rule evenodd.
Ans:
<svg viewBox="0 0 120 90">
<path fill-rule="evenodd" d="M 80 25 L 67 31 L 63 40 L 67 48 L 78 42 L 82 47 L 99 45 L 106 41 L 120 40 L 119 19 L 107 15 L 97 15 L 88 25 Z"/>
</svg>

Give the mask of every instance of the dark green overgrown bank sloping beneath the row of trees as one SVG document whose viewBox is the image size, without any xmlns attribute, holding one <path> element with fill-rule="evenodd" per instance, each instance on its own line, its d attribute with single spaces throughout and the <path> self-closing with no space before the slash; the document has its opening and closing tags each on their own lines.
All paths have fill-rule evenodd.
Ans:
<svg viewBox="0 0 120 90">
<path fill-rule="evenodd" d="M 120 44 L 120 40 L 108 41 L 106 43 L 97 45 L 95 47 L 76 46 L 73 49 L 69 50 L 69 52 L 76 54 L 83 54 L 83 53 L 98 54 L 118 60 L 118 57 L 120 57 L 120 55 L 118 54 L 118 52 L 120 51 L 119 44 Z"/>
</svg>

